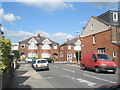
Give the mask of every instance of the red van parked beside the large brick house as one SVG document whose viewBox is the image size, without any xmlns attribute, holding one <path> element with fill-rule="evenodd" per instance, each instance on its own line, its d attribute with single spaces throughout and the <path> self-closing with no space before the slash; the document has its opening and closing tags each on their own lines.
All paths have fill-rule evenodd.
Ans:
<svg viewBox="0 0 120 90">
<path fill-rule="evenodd" d="M 96 73 L 101 71 L 116 72 L 116 64 L 105 53 L 82 53 L 80 66 L 82 69 L 94 69 Z"/>
</svg>

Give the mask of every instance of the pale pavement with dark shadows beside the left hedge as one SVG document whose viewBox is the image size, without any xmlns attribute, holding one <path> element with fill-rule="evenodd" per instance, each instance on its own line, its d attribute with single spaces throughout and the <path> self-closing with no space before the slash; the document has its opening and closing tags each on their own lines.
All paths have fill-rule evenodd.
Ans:
<svg viewBox="0 0 120 90">
<path fill-rule="evenodd" d="M 53 88 L 53 86 L 41 77 L 29 64 L 18 62 L 20 65 L 15 76 L 9 82 L 7 88 Z M 43 84 L 41 84 L 43 83 Z"/>
</svg>

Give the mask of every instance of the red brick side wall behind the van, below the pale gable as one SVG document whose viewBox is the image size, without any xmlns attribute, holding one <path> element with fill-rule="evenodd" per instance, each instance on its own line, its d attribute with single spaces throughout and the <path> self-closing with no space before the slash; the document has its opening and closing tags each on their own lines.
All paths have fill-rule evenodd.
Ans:
<svg viewBox="0 0 120 90">
<path fill-rule="evenodd" d="M 111 30 L 104 31 L 96 34 L 96 43 L 93 44 L 93 35 L 84 37 L 82 40 L 82 53 L 97 53 L 98 48 L 106 48 L 106 53 L 108 53 L 116 62 L 118 66 L 118 57 L 120 58 L 120 54 L 118 53 L 120 47 L 112 44 L 111 40 Z M 113 57 L 113 52 L 117 52 L 117 57 Z M 119 55 L 118 55 L 119 54 Z M 119 65 L 120 67 L 120 65 Z"/>
</svg>

